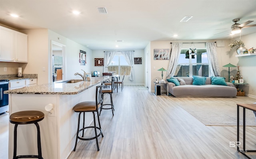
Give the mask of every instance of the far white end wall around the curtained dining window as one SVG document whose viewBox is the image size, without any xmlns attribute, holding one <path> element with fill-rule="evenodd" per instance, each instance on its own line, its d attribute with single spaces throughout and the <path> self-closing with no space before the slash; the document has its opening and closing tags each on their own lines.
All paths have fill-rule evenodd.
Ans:
<svg viewBox="0 0 256 159">
<path fill-rule="evenodd" d="M 94 58 L 104 58 L 104 51 L 110 50 L 92 50 L 92 65 L 91 71 L 92 74 L 94 71 L 102 73 L 104 72 L 103 66 L 94 66 Z M 112 50 L 111 50 L 112 51 Z M 122 51 L 122 50 L 118 50 Z M 130 81 L 128 76 L 124 78 L 124 85 L 144 85 L 144 67 L 145 67 L 145 58 L 144 58 L 144 50 L 134 50 L 134 58 L 142 58 L 142 64 L 134 64 L 134 81 Z"/>
</svg>

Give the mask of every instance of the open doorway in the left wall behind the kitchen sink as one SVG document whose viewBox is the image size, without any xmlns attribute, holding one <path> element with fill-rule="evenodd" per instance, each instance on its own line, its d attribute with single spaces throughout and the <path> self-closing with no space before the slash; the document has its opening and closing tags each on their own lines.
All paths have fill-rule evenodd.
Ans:
<svg viewBox="0 0 256 159">
<path fill-rule="evenodd" d="M 52 71 L 51 82 L 62 81 L 66 79 L 65 74 L 65 50 L 66 46 L 63 44 L 52 41 Z"/>
</svg>

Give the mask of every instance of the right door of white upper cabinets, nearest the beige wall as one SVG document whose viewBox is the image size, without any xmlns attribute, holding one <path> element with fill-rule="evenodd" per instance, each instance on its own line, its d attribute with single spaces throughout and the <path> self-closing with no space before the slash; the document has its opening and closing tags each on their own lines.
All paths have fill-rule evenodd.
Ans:
<svg viewBox="0 0 256 159">
<path fill-rule="evenodd" d="M 16 32 L 15 62 L 28 62 L 28 35 Z"/>
</svg>

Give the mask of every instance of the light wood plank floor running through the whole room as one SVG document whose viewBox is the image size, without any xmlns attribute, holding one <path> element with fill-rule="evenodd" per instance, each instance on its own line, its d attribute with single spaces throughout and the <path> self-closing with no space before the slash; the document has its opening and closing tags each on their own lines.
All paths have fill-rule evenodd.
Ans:
<svg viewBox="0 0 256 159">
<path fill-rule="evenodd" d="M 223 104 L 236 106 L 236 103 L 254 103 L 256 99 L 175 98 L 156 96 L 138 88 L 125 85 L 123 91 L 113 93 L 114 116 L 111 109 L 102 111 L 100 123 L 104 137 L 98 137 L 100 151 L 95 140 L 80 141 L 68 159 L 246 159 L 236 148 L 229 147 L 230 141 L 236 141 L 236 126 L 205 126 L 179 105 L 221 100 Z M 107 95 L 104 100 L 108 100 Z M 0 144 L 4 135 L 2 124 L 8 125 L 8 118 L 2 122 L 1 116 Z M 93 133 L 87 131 L 86 135 Z M 256 149 L 256 127 L 246 127 L 246 135 L 246 148 Z M 0 154 L 7 149 L 1 145 Z M 256 153 L 250 155 L 256 159 Z"/>
</svg>

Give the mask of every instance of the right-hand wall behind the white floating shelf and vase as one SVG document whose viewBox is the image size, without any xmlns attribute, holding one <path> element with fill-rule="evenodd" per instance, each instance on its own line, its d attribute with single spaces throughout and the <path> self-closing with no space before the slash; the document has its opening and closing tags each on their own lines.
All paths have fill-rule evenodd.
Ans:
<svg viewBox="0 0 256 159">
<path fill-rule="evenodd" d="M 244 42 L 247 49 L 252 47 L 256 48 L 255 36 L 256 33 L 241 37 L 241 40 Z M 233 40 L 239 40 L 239 38 Z M 233 40 L 230 40 L 230 42 Z M 243 76 L 244 83 L 249 83 L 248 85 L 241 85 L 240 88 L 244 89 L 246 95 L 256 98 L 256 55 L 236 57 L 236 48 L 238 47 L 235 47 L 230 51 L 230 61 L 233 65 L 240 66 L 240 75 Z M 236 70 L 234 70 L 234 74 L 236 74 Z"/>
</svg>

